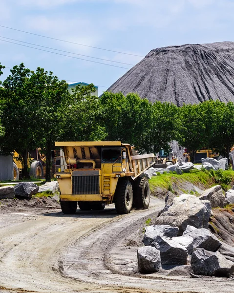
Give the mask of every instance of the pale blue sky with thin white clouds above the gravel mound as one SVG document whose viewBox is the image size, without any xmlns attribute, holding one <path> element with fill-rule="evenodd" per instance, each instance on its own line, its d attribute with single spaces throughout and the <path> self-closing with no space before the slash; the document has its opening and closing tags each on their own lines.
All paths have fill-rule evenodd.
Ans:
<svg viewBox="0 0 234 293">
<path fill-rule="evenodd" d="M 169 45 L 234 41 L 234 0 L 1 0 L 0 11 L 3 26 L 140 56 Z M 142 59 L 0 27 L 0 39 L 7 40 L 2 37 L 133 65 Z M 99 94 L 128 71 L 3 41 L 0 62 L 7 67 L 23 62 L 67 81 L 93 83 Z M 5 68 L 1 80 L 9 73 Z"/>
</svg>

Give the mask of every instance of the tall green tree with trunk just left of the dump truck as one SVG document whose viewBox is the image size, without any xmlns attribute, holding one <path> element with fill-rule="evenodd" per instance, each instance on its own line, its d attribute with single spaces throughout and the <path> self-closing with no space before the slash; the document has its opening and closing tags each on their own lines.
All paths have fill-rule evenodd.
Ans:
<svg viewBox="0 0 234 293">
<path fill-rule="evenodd" d="M 47 72 L 38 67 L 32 71 L 30 80 L 33 97 L 33 119 L 37 123 L 34 129 L 37 146 L 42 147 L 46 156 L 45 179 L 51 180 L 51 151 L 55 141 L 61 140 L 69 121 L 69 106 L 72 104 L 67 83 L 59 81 L 53 72 Z"/>
</svg>

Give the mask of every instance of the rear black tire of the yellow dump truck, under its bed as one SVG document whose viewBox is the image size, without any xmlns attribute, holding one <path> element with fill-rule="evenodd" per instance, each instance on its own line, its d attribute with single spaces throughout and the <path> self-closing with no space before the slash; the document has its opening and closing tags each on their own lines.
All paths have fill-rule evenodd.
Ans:
<svg viewBox="0 0 234 293">
<path fill-rule="evenodd" d="M 147 177 L 139 177 L 133 184 L 133 200 L 136 209 L 148 209 L 150 201 L 149 181 Z"/>
</svg>

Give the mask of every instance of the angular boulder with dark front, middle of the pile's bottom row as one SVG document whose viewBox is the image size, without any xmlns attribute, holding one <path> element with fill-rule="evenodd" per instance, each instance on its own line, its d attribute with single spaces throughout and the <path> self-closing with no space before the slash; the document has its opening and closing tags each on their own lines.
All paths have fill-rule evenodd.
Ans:
<svg viewBox="0 0 234 293">
<path fill-rule="evenodd" d="M 169 237 L 158 235 L 152 245 L 160 251 L 163 265 L 187 265 L 187 249 Z"/>
</svg>

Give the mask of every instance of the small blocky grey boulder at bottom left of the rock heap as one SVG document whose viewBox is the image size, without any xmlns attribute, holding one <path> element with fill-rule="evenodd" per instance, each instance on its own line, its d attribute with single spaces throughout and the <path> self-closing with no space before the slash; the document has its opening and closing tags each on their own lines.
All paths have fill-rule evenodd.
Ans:
<svg viewBox="0 0 234 293">
<path fill-rule="evenodd" d="M 137 251 L 139 272 L 158 272 L 162 269 L 160 251 L 155 247 L 145 246 Z"/>
</svg>

